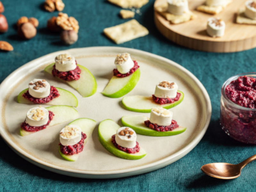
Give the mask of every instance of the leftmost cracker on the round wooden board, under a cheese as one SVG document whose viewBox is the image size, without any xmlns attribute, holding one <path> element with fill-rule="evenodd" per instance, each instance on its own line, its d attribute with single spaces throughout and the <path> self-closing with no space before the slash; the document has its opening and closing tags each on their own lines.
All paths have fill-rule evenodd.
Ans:
<svg viewBox="0 0 256 192">
<path fill-rule="evenodd" d="M 196 14 L 191 11 L 184 13 L 183 15 L 174 15 L 167 11 L 168 4 L 162 4 L 156 7 L 156 11 L 159 12 L 166 20 L 173 24 L 184 23 L 189 20 L 196 19 Z"/>
</svg>

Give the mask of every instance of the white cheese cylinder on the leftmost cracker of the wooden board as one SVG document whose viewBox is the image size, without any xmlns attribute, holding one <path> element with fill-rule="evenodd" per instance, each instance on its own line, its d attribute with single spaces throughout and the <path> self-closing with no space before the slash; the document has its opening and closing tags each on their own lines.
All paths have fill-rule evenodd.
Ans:
<svg viewBox="0 0 256 192">
<path fill-rule="evenodd" d="M 183 15 L 188 12 L 188 0 L 168 0 L 168 12 Z"/>
</svg>

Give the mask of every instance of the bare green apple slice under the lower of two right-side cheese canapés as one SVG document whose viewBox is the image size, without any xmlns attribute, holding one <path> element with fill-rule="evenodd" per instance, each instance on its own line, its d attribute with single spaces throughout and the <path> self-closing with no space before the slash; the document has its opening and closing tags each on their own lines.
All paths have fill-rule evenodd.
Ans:
<svg viewBox="0 0 256 192">
<path fill-rule="evenodd" d="M 123 116 L 122 117 L 122 124 L 127 127 L 131 127 L 137 134 L 140 135 L 148 135 L 154 137 L 163 137 L 163 136 L 171 136 L 171 135 L 178 135 L 184 131 L 186 131 L 186 127 L 177 127 L 172 131 L 165 131 L 160 132 L 154 129 L 148 128 L 144 121 L 148 120 L 146 116 Z"/>
</svg>

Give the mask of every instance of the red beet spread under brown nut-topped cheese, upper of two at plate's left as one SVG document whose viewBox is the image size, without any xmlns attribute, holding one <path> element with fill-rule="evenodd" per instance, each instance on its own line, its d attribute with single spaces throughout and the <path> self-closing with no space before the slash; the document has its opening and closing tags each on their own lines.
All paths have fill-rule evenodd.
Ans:
<svg viewBox="0 0 256 192">
<path fill-rule="evenodd" d="M 24 98 L 30 100 L 33 103 L 40 104 L 40 103 L 47 103 L 47 102 L 53 100 L 54 98 L 59 97 L 60 94 L 59 94 L 58 90 L 56 89 L 56 87 L 51 86 L 50 95 L 45 98 L 42 98 L 42 99 L 35 98 L 35 97 L 31 96 L 28 91 L 26 91 L 22 96 Z"/>
</svg>

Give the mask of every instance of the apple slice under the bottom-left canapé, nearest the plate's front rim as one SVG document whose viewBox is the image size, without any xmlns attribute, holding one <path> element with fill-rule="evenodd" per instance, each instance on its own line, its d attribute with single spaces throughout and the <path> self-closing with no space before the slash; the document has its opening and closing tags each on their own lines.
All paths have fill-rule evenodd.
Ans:
<svg viewBox="0 0 256 192">
<path fill-rule="evenodd" d="M 86 134 L 86 139 L 84 140 L 84 145 L 85 145 L 88 139 L 91 137 L 92 132 L 97 123 L 96 121 L 89 118 L 79 118 L 72 121 L 70 124 L 78 125 L 81 128 L 82 132 Z M 74 155 L 63 154 L 60 151 L 60 146 L 59 146 L 59 153 L 60 153 L 60 156 L 67 161 L 76 161 L 79 156 L 79 153 L 76 153 Z"/>
</svg>

